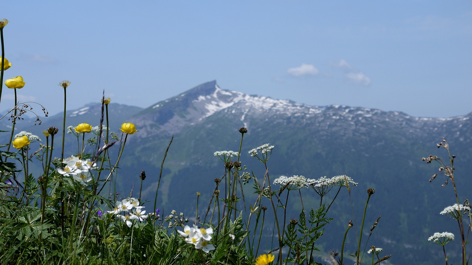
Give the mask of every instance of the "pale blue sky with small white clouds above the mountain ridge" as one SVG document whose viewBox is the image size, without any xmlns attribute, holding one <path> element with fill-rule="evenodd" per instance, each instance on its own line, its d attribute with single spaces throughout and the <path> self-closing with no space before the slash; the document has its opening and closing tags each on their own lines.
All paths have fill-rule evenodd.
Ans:
<svg viewBox="0 0 472 265">
<path fill-rule="evenodd" d="M 457 1 L 8 1 L 6 78 L 23 100 L 148 107 L 222 89 L 447 117 L 472 111 L 472 8 Z M 3 92 L 0 109 L 13 105 Z"/>
</svg>

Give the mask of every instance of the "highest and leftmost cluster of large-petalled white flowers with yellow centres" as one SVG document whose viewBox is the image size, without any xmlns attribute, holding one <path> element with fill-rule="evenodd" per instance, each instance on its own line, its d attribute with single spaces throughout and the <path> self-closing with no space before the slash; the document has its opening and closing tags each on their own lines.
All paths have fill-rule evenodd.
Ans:
<svg viewBox="0 0 472 265">
<path fill-rule="evenodd" d="M 80 182 L 83 185 L 86 185 L 87 182 L 92 180 L 92 177 L 87 176 L 88 172 L 97 166 L 96 163 L 90 161 L 90 159 L 82 160 L 78 157 L 67 157 L 66 159 L 62 160 L 64 169 L 58 168 L 58 173 L 64 176 L 70 176 Z M 84 174 L 85 173 L 85 174 Z"/>
</svg>

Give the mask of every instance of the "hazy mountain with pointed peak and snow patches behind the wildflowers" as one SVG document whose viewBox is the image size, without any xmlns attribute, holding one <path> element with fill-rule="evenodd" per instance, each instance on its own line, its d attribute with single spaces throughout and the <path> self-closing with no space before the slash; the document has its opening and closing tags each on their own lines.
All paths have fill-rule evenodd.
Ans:
<svg viewBox="0 0 472 265">
<path fill-rule="evenodd" d="M 84 109 L 86 107 L 89 109 Z M 86 107 L 68 112 L 67 124 L 98 124 L 100 104 Z M 456 263 L 460 259 L 455 223 L 439 215 L 444 207 L 454 204 L 454 190 L 450 182 L 441 187 L 446 181 L 441 175 L 428 182 L 438 166 L 427 165 L 421 157 L 433 154 L 446 159 L 447 152 L 436 148 L 436 143 L 446 137 L 451 152 L 457 156 L 455 176 L 459 199 L 470 198 L 467 185 L 472 170 L 472 114 L 425 118 L 344 105 L 309 106 L 223 90 L 216 81 L 145 109 L 113 103 L 109 108 L 110 113 L 115 113 L 110 115 L 113 130 L 125 121 L 133 122 L 138 129 L 128 136 L 121 158 L 116 179 L 117 190 L 123 191 L 120 196 L 127 196 L 133 187 L 136 196 L 140 184 L 138 176 L 145 170 L 148 177 L 143 182 L 142 197 L 154 199 L 160 164 L 174 135 L 159 187 L 158 205 L 164 215 L 175 209 L 191 216 L 197 191 L 202 193 L 199 209 L 203 208 L 200 213 L 203 214 L 214 189 L 213 179 L 224 174 L 221 161 L 213 153 L 237 151 L 241 139 L 237 130 L 244 126 L 249 132 L 244 134 L 240 160 L 259 179 L 263 178 L 265 168 L 247 151 L 270 143 L 275 146 L 268 163 L 271 181 L 280 175 L 319 178 L 346 174 L 359 182 L 357 187 L 351 188 L 351 196 L 346 189 L 341 190 L 331 207 L 328 215 L 335 220 L 326 227 L 318 246 L 324 252 L 340 250 L 349 220 L 353 219 L 359 230 L 366 189 L 373 188 L 376 192 L 369 202 L 364 232 L 379 215 L 382 217 L 368 247 L 374 245 L 384 249 L 382 254 L 393 254 L 392 264 L 437 264 L 443 262 L 442 251 L 427 239 L 434 232 L 447 231 L 454 232 L 457 239 L 447 245 L 450 260 Z M 88 112 L 80 114 L 84 111 Z M 77 116 L 71 116 L 73 114 Z M 37 128 L 50 124 L 60 127 L 61 117 L 60 114 L 51 117 L 51 123 L 44 121 Z M 30 128 L 33 132 L 36 127 Z M 70 145 L 67 150 L 73 152 L 76 139 L 70 135 L 66 139 Z M 110 149 L 111 157 L 118 156 L 117 150 L 118 147 Z M 251 186 L 244 186 L 247 204 L 253 204 L 255 199 Z M 305 210 L 319 206 L 319 196 L 313 190 L 301 192 Z M 334 195 L 331 191 L 328 201 Z M 298 218 L 300 196 L 291 192 L 288 205 L 288 219 Z M 351 254 L 355 252 L 354 231 L 351 230 L 346 239 L 346 251 Z M 264 235 L 270 239 L 272 227 L 267 227 Z M 264 244 L 263 249 L 270 248 L 268 243 Z M 318 261 L 325 263 L 319 257 Z"/>
</svg>

